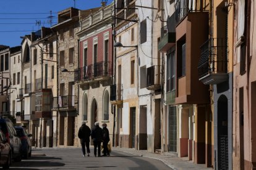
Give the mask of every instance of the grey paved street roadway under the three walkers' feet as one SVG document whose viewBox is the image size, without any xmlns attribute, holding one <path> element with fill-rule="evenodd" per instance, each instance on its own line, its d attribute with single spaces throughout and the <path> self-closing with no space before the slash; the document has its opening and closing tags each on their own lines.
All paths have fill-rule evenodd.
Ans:
<svg viewBox="0 0 256 170">
<path fill-rule="evenodd" d="M 93 149 L 91 148 L 91 152 Z M 80 148 L 36 148 L 10 169 L 170 169 L 159 160 L 113 151 L 109 157 L 82 157 Z"/>
</svg>

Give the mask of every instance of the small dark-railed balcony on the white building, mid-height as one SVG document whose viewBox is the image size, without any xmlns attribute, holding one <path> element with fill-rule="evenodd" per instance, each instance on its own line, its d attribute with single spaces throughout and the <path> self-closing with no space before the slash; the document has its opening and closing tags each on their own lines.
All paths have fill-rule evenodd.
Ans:
<svg viewBox="0 0 256 170">
<path fill-rule="evenodd" d="M 161 89 L 161 66 L 153 65 L 147 68 L 147 89 L 156 91 Z"/>
</svg>

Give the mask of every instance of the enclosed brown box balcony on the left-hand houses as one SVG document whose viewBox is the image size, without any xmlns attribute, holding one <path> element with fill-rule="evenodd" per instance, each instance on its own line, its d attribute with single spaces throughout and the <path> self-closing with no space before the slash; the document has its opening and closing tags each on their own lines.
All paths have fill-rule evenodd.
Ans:
<svg viewBox="0 0 256 170">
<path fill-rule="evenodd" d="M 51 89 L 40 89 L 35 93 L 35 118 L 51 118 Z"/>
</svg>

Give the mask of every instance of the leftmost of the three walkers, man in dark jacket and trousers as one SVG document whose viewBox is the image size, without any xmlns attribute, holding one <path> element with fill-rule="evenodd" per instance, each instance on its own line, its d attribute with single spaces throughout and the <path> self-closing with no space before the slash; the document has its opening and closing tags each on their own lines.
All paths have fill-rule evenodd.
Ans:
<svg viewBox="0 0 256 170">
<path fill-rule="evenodd" d="M 85 156 L 85 146 L 87 148 L 87 156 L 90 156 L 90 136 L 91 136 L 91 129 L 88 127 L 85 123 L 85 121 L 82 121 L 82 126 L 79 128 L 79 139 L 80 143 L 82 145 L 82 152 L 83 157 Z"/>
</svg>

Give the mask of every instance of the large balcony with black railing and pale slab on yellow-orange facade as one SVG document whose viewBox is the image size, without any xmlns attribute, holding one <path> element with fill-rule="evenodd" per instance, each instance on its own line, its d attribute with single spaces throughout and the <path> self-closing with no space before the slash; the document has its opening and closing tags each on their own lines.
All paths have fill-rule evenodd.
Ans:
<svg viewBox="0 0 256 170">
<path fill-rule="evenodd" d="M 208 39 L 200 49 L 201 56 L 197 67 L 199 80 L 203 84 L 220 84 L 227 81 L 229 76 L 226 39 Z"/>
</svg>

